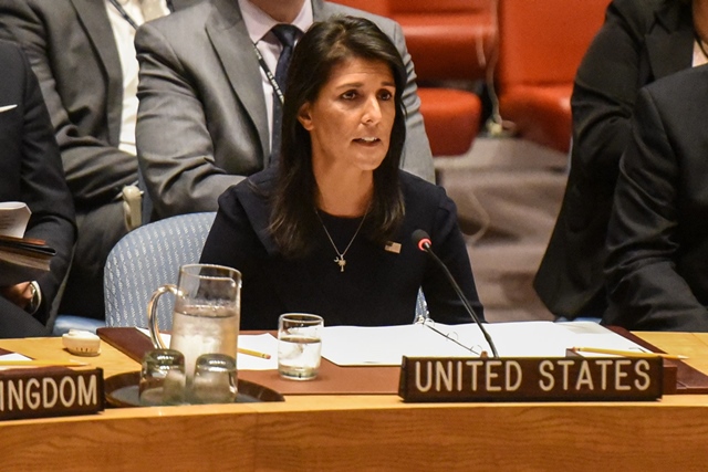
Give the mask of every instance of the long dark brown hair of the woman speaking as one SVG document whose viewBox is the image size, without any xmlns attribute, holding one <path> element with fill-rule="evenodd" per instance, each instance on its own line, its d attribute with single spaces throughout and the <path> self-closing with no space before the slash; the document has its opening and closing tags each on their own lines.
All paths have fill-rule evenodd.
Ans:
<svg viewBox="0 0 708 472">
<path fill-rule="evenodd" d="M 352 57 L 385 63 L 391 67 L 396 85 L 391 144 L 383 162 L 374 170 L 374 197 L 362 231 L 369 240 L 383 244 L 404 218 L 398 166 L 406 136 L 403 91 L 407 74 L 400 54 L 391 39 L 369 20 L 334 17 L 316 22 L 295 46 L 290 63 L 278 178 L 271 195 L 271 234 L 281 253 L 289 258 L 308 253 L 310 235 L 319 225 L 312 143 L 310 133 L 298 120 L 298 114 L 305 103 L 317 98 L 332 70 Z"/>
</svg>

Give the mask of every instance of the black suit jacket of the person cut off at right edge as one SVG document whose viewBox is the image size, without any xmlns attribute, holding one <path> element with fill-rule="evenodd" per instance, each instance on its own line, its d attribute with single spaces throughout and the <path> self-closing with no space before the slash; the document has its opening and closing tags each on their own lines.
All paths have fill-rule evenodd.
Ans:
<svg viewBox="0 0 708 472">
<path fill-rule="evenodd" d="M 637 99 L 607 233 L 604 322 L 708 332 L 708 66 Z"/>
</svg>

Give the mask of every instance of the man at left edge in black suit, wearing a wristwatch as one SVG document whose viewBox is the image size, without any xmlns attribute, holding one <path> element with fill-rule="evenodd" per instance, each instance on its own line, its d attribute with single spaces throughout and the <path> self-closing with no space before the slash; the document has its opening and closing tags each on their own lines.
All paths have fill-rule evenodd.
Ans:
<svg viewBox="0 0 708 472">
<path fill-rule="evenodd" d="M 4 41 L 0 149 L 0 202 L 27 203 L 32 214 L 24 237 L 44 240 L 56 251 L 39 280 L 0 287 L 0 337 L 44 336 L 76 238 L 74 207 L 37 77 L 22 51 Z"/>
</svg>

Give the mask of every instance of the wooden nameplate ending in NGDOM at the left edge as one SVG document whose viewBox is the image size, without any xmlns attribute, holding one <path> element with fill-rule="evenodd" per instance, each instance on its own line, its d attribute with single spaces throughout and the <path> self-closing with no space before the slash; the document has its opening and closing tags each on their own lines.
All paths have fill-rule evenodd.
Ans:
<svg viewBox="0 0 708 472">
<path fill-rule="evenodd" d="M 103 411 L 103 369 L 38 367 L 0 371 L 0 420 Z"/>
</svg>

